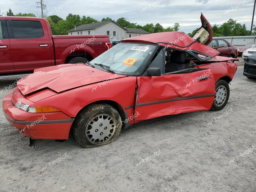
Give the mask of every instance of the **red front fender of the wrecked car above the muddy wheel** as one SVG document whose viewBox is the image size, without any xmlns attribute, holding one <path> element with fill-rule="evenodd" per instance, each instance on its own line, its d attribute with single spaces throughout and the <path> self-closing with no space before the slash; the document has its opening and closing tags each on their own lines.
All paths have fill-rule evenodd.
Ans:
<svg viewBox="0 0 256 192">
<path fill-rule="evenodd" d="M 56 94 L 32 104 L 31 107 L 50 105 L 74 118 L 84 107 L 97 101 L 114 101 L 124 111 L 126 111 L 126 107 L 133 106 L 136 86 L 135 76 L 126 76 L 104 82 Z M 127 116 L 132 116 L 131 109 L 126 112 Z M 132 121 L 130 123 L 133 124 Z"/>
</svg>

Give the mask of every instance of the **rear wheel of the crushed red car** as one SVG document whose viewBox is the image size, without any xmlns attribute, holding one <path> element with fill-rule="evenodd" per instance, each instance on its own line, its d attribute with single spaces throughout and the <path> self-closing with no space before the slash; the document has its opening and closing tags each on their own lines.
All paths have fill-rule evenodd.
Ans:
<svg viewBox="0 0 256 192">
<path fill-rule="evenodd" d="M 215 84 L 215 98 L 211 110 L 219 111 L 223 109 L 228 103 L 229 93 L 228 83 L 224 80 L 218 80 Z"/>
</svg>

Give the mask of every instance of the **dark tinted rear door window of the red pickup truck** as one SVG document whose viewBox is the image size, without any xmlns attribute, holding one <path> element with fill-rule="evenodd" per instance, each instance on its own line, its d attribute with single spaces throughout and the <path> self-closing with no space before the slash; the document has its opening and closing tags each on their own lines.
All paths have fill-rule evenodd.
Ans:
<svg viewBox="0 0 256 192">
<path fill-rule="evenodd" d="M 15 39 L 34 39 L 44 36 L 40 21 L 12 20 Z"/>
</svg>

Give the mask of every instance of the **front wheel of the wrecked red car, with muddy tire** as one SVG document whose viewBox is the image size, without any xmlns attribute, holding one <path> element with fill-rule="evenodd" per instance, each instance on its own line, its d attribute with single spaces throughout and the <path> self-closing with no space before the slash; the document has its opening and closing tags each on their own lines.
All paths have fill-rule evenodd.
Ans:
<svg viewBox="0 0 256 192">
<path fill-rule="evenodd" d="M 118 111 L 108 104 L 86 107 L 76 117 L 73 136 L 83 148 L 94 148 L 112 143 L 121 132 L 122 120 Z"/>
</svg>

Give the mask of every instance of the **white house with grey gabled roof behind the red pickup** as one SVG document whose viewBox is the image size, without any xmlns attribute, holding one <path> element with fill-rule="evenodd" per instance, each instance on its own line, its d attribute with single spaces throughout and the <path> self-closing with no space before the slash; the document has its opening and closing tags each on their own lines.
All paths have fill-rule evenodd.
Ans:
<svg viewBox="0 0 256 192">
<path fill-rule="evenodd" d="M 102 21 L 80 25 L 68 31 L 68 35 L 108 35 L 110 39 L 122 40 L 129 37 L 149 34 L 136 28 L 123 28 L 114 21 Z"/>
</svg>

